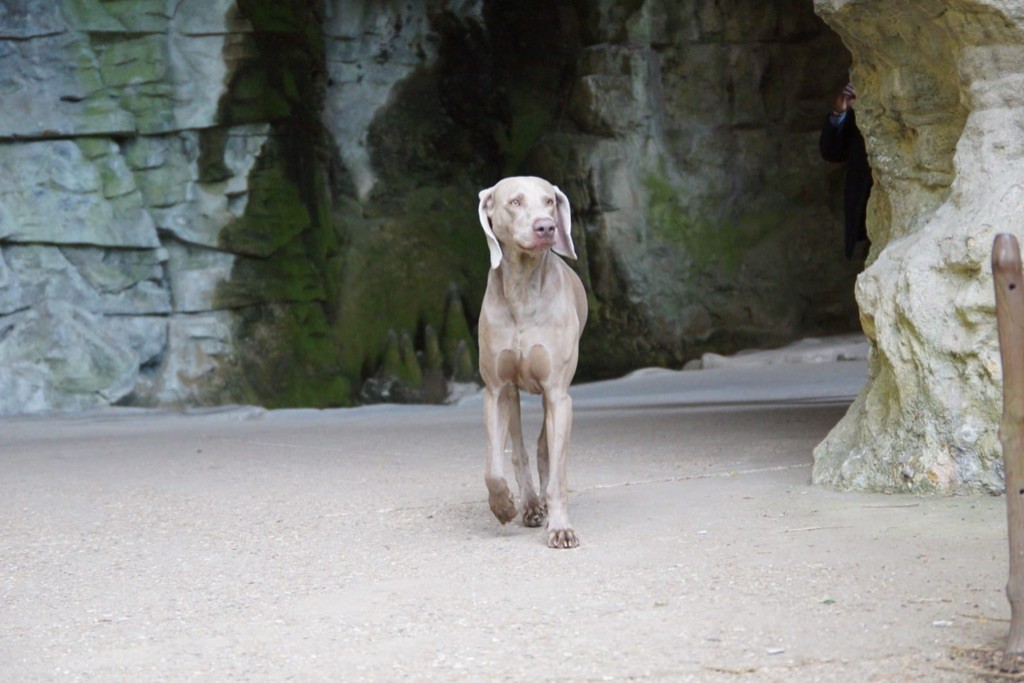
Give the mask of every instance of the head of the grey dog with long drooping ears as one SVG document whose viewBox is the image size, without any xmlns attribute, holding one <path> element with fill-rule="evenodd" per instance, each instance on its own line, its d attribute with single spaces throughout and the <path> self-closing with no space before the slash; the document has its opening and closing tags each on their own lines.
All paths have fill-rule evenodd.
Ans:
<svg viewBox="0 0 1024 683">
<path fill-rule="evenodd" d="M 502 249 L 556 254 L 575 258 L 569 201 L 543 178 L 505 178 L 480 191 L 480 225 L 487 236 L 490 267 L 502 262 Z"/>
</svg>

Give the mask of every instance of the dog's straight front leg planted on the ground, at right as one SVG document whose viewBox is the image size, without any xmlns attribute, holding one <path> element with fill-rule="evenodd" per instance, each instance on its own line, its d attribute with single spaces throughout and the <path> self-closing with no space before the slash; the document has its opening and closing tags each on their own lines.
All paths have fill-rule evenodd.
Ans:
<svg viewBox="0 0 1024 683">
<path fill-rule="evenodd" d="M 548 435 L 548 545 L 575 548 L 580 545 L 569 522 L 568 480 L 565 476 L 569 432 L 572 430 L 572 399 L 565 392 L 545 394 L 544 430 Z"/>
</svg>

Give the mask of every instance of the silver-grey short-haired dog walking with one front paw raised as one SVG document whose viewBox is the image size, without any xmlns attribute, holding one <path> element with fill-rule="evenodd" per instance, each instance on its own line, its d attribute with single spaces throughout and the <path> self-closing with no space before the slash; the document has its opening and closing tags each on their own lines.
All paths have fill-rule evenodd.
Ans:
<svg viewBox="0 0 1024 683">
<path fill-rule="evenodd" d="M 565 477 L 572 427 L 568 388 L 587 325 L 587 293 L 559 258 L 577 258 L 569 202 L 558 187 L 531 176 L 505 178 L 479 198 L 490 252 L 479 318 L 488 504 L 503 524 L 516 516 L 503 466 L 511 437 L 522 523 L 540 526 L 547 518 L 548 545 L 574 548 L 580 539 L 569 522 Z M 543 396 L 544 426 L 537 441 L 543 499 L 534 488 L 523 445 L 520 390 Z"/>
</svg>

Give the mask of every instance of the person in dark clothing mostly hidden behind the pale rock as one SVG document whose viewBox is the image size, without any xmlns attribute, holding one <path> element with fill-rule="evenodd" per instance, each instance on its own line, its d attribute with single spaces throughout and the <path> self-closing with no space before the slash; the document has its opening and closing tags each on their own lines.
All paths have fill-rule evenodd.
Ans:
<svg viewBox="0 0 1024 683">
<path fill-rule="evenodd" d="M 853 258 L 858 242 L 867 240 L 867 199 L 871 195 L 871 167 L 867 163 L 864 136 L 857 129 L 853 100 L 857 91 L 848 83 L 836 97 L 821 126 L 819 146 L 825 161 L 846 164 L 843 210 L 846 218 L 846 257 Z"/>
</svg>

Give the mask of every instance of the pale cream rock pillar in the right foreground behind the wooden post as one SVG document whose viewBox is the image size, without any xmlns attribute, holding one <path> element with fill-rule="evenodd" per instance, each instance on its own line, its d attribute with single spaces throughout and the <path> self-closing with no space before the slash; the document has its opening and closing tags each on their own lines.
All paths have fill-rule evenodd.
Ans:
<svg viewBox="0 0 1024 683">
<path fill-rule="evenodd" d="M 1015 2 L 816 0 L 850 46 L 876 191 L 857 283 L 870 380 L 814 480 L 997 492 L 1001 371 L 989 259 L 1024 215 Z"/>
</svg>

